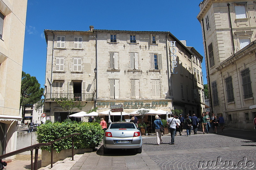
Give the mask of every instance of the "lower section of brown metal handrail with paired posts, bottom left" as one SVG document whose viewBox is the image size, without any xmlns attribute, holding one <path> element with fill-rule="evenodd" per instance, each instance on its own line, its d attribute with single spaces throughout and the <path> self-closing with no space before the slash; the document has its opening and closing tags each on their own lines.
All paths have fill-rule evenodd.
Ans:
<svg viewBox="0 0 256 170">
<path fill-rule="evenodd" d="M 2 161 L 2 159 L 7 158 L 9 156 L 13 156 L 22 152 L 26 152 L 26 151 L 30 151 L 31 152 L 31 170 L 33 170 L 33 149 L 35 149 L 35 162 L 34 162 L 34 169 L 37 170 L 37 159 L 38 159 L 38 149 L 41 146 L 50 146 L 50 143 L 39 143 L 39 144 L 33 144 L 31 146 L 19 149 L 17 151 L 13 151 L 13 152 L 9 152 L 6 153 L 4 155 L 0 156 L 0 161 Z"/>
</svg>

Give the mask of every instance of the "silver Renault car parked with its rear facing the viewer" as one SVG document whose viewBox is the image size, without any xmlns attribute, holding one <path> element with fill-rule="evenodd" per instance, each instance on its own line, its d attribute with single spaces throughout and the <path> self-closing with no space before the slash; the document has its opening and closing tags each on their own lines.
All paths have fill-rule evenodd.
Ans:
<svg viewBox="0 0 256 170">
<path fill-rule="evenodd" d="M 142 151 L 142 137 L 133 122 L 112 122 L 103 137 L 103 152 L 109 149 L 136 149 Z"/>
</svg>

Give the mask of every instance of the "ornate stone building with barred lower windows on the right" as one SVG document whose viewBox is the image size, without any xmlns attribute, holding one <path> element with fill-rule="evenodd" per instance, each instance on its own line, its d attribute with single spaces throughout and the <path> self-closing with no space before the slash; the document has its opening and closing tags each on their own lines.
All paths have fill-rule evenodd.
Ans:
<svg viewBox="0 0 256 170">
<path fill-rule="evenodd" d="M 256 4 L 204 0 L 199 7 L 211 112 L 223 114 L 230 127 L 253 129 Z"/>
</svg>

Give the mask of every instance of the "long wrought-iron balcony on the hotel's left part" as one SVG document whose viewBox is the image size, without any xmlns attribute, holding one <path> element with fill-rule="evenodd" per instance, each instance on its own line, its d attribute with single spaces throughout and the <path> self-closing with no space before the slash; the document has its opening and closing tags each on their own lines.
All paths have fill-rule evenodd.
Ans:
<svg viewBox="0 0 256 170">
<path fill-rule="evenodd" d="M 45 93 L 45 101 L 55 101 L 60 98 L 74 99 L 75 101 L 93 101 L 94 93 Z"/>
</svg>

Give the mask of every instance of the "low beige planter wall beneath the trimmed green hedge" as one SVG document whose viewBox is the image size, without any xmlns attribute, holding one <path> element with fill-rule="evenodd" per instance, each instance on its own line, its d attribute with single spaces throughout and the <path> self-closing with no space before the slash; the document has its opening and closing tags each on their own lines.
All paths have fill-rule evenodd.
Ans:
<svg viewBox="0 0 256 170">
<path fill-rule="evenodd" d="M 74 149 L 74 155 L 76 154 L 84 154 L 85 152 L 92 152 L 92 148 L 84 148 L 84 149 Z M 53 163 L 64 160 L 68 157 L 72 157 L 72 149 L 65 149 L 57 153 L 55 150 L 53 151 Z M 51 152 L 42 150 L 42 166 L 48 166 L 51 164 Z"/>
</svg>

